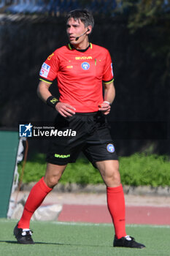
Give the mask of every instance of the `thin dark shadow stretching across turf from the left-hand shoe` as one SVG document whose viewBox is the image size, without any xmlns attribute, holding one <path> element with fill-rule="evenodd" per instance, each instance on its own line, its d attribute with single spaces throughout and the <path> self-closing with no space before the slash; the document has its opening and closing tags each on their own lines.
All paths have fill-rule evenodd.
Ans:
<svg viewBox="0 0 170 256">
<path fill-rule="evenodd" d="M 19 244 L 17 241 L 0 241 L 0 243 L 7 243 L 7 244 Z M 63 245 L 63 246 L 90 246 L 90 247 L 108 247 L 108 246 L 104 246 L 104 245 L 92 245 L 92 244 L 63 244 L 63 243 L 47 243 L 47 242 L 34 242 L 34 244 L 49 244 L 49 245 Z M 31 244 L 32 246 L 34 246 L 34 244 Z M 23 244 L 20 244 L 23 245 Z M 26 245 L 26 244 L 24 244 Z M 27 244 L 30 245 L 30 244 Z"/>
</svg>

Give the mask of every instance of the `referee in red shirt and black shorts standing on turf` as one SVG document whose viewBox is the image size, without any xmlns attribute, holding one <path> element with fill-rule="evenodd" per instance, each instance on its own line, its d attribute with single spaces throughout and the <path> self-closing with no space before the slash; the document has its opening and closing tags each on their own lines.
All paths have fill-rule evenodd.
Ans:
<svg viewBox="0 0 170 256">
<path fill-rule="evenodd" d="M 58 112 L 58 129 L 72 129 L 77 135 L 58 137 L 50 143 L 45 177 L 31 189 L 23 215 L 14 229 L 20 244 L 34 244 L 30 219 L 46 195 L 58 184 L 66 165 L 83 151 L 98 168 L 107 186 L 107 203 L 115 227 L 113 246 L 144 248 L 125 232 L 125 200 L 120 183 L 119 163 L 106 116 L 115 98 L 112 61 L 109 51 L 88 41 L 93 16 L 86 10 L 69 12 L 66 32 L 69 45 L 55 50 L 40 71 L 39 97 Z M 55 78 L 60 98 L 50 94 Z M 104 85 L 104 96 L 103 86 Z"/>
</svg>

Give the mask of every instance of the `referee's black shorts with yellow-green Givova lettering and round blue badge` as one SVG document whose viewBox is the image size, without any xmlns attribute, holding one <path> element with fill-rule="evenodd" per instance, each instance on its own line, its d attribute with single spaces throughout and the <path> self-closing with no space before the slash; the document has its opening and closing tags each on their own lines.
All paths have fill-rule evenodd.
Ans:
<svg viewBox="0 0 170 256">
<path fill-rule="evenodd" d="M 50 141 L 47 162 L 54 165 L 76 162 L 80 151 L 94 167 L 98 161 L 117 160 L 106 116 L 101 112 L 76 113 L 67 118 L 58 114 L 55 129 L 63 135 Z"/>
</svg>

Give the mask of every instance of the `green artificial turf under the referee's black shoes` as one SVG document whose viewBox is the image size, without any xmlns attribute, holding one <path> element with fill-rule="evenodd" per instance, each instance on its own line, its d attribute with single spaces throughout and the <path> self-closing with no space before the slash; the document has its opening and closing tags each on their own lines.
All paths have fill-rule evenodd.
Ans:
<svg viewBox="0 0 170 256">
<path fill-rule="evenodd" d="M 129 249 L 112 247 L 112 225 L 74 222 L 31 222 L 35 244 L 17 244 L 12 236 L 16 223 L 0 219 L 1 256 L 169 255 L 170 226 L 127 225 L 127 233 L 147 246 Z"/>
</svg>

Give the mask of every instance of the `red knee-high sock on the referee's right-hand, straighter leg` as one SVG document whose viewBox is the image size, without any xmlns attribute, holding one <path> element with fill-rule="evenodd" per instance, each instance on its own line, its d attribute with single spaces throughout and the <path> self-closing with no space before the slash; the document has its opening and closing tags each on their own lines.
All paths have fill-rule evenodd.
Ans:
<svg viewBox="0 0 170 256">
<path fill-rule="evenodd" d="M 115 227 L 115 236 L 120 239 L 125 233 L 125 198 L 123 187 L 107 187 L 107 206 Z"/>
</svg>

